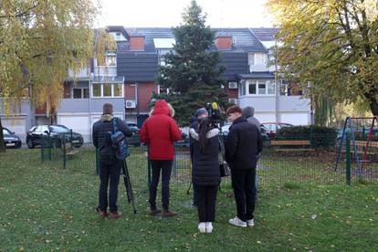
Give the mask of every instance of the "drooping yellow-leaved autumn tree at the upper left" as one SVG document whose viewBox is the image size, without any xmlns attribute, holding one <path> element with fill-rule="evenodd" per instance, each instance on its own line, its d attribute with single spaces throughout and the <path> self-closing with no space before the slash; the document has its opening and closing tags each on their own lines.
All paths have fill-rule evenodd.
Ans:
<svg viewBox="0 0 378 252">
<path fill-rule="evenodd" d="M 0 1 L 0 99 L 5 113 L 28 97 L 35 106 L 57 108 L 68 70 L 90 58 L 104 61 L 115 41 L 94 30 L 100 5 L 91 0 Z M 1 128 L 1 118 L 0 118 Z M 0 131 L 0 150 L 4 138 Z"/>
</svg>

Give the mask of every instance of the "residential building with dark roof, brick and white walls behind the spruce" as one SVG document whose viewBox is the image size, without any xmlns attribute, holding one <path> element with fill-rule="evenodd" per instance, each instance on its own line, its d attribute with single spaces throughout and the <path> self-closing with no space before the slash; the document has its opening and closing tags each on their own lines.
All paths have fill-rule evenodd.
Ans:
<svg viewBox="0 0 378 252">
<path fill-rule="evenodd" d="M 261 122 L 288 122 L 297 125 L 310 123 L 310 100 L 295 94 L 290 85 L 277 74 L 272 47 L 275 28 L 215 28 L 215 45 L 220 65 L 226 67 L 229 101 L 240 107 L 253 106 Z M 105 66 L 93 59 L 89 68 L 83 68 L 73 79 L 72 72 L 64 85 L 60 106 L 51 113 L 47 106 L 32 108 L 23 100 L 17 112 L 4 117 L 4 127 L 16 131 L 25 139 L 33 125 L 64 124 L 80 132 L 90 142 L 91 126 L 102 113 L 102 104 L 111 102 L 116 116 L 137 123 L 148 117 L 152 93 L 159 93 L 156 83 L 164 55 L 175 43 L 171 28 L 128 28 L 109 26 L 108 31 L 117 40 L 117 51 L 108 52 Z M 278 86 L 276 86 L 276 82 Z"/>
</svg>

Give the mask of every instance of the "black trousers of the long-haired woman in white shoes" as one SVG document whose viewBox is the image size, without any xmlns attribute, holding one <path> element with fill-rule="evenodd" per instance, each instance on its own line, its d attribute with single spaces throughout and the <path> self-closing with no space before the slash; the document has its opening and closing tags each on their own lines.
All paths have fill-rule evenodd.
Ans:
<svg viewBox="0 0 378 252">
<path fill-rule="evenodd" d="M 200 222 L 215 221 L 215 201 L 219 185 L 195 185 L 198 218 Z"/>
</svg>

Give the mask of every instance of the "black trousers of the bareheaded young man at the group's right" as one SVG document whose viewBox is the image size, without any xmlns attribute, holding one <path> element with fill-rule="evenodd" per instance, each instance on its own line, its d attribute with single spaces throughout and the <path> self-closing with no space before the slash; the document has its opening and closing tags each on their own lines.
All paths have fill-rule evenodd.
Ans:
<svg viewBox="0 0 378 252">
<path fill-rule="evenodd" d="M 237 217 L 242 221 L 253 219 L 255 211 L 255 177 L 256 170 L 231 170 Z"/>
</svg>

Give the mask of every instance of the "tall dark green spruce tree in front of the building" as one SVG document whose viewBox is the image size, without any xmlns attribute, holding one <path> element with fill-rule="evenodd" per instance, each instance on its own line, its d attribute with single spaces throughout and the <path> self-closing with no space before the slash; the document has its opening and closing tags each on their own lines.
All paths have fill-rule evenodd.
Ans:
<svg viewBox="0 0 378 252">
<path fill-rule="evenodd" d="M 205 19 L 202 8 L 192 1 L 183 13 L 184 24 L 173 28 L 175 45 L 160 68 L 158 83 L 170 90 L 160 97 L 173 104 L 181 125 L 187 125 L 195 110 L 206 103 L 215 101 L 225 106 L 227 102 L 220 78 L 225 68 L 217 66 L 220 56 L 212 51 L 215 31 L 205 26 Z"/>
</svg>

